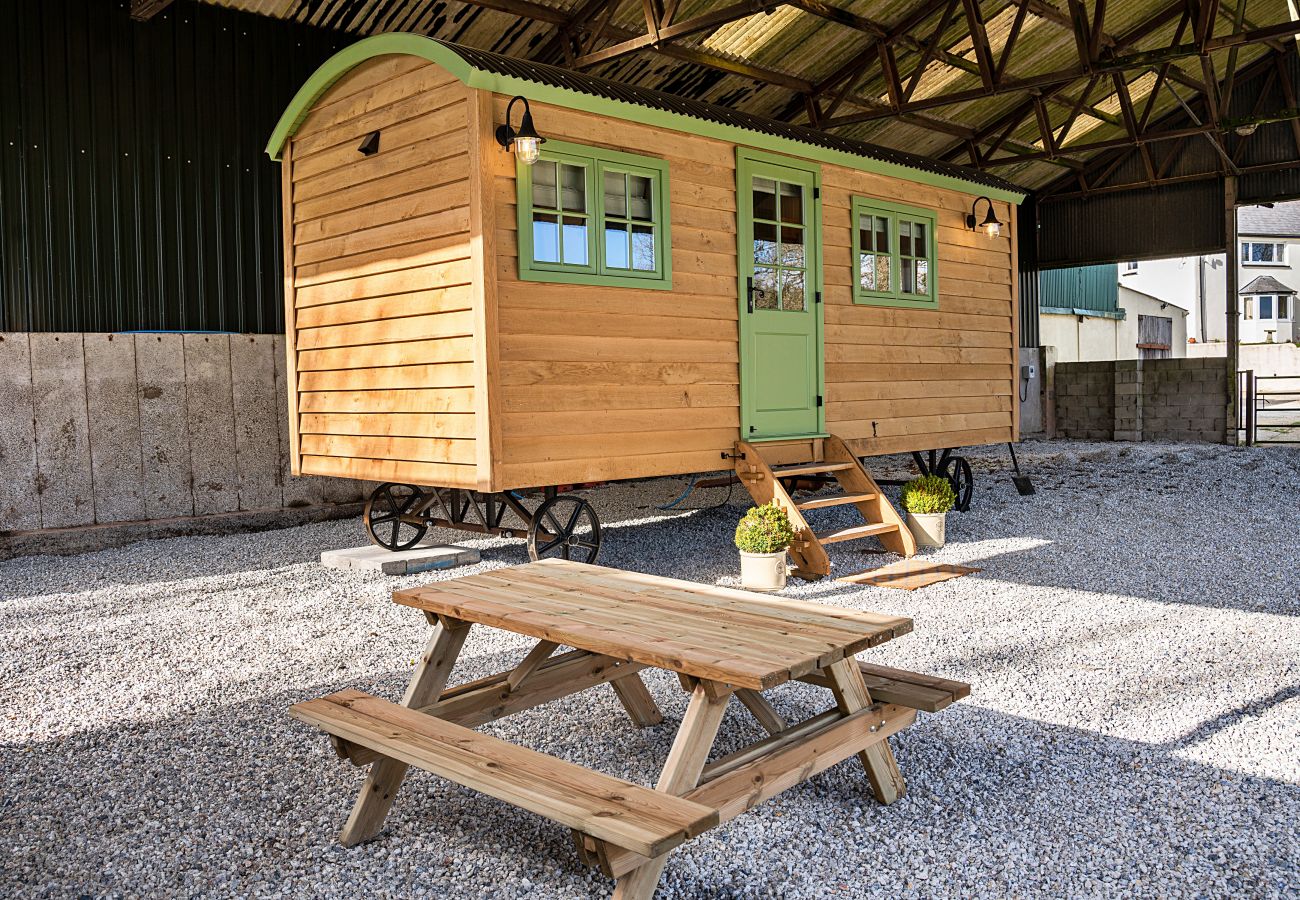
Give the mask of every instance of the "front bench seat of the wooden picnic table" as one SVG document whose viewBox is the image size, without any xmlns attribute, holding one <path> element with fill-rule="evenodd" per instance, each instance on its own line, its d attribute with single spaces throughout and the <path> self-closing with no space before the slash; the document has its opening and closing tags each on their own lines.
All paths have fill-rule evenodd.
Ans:
<svg viewBox="0 0 1300 900">
<path fill-rule="evenodd" d="M 290 714 L 382 756 L 504 800 L 642 856 L 718 825 L 718 810 L 594 773 L 360 691 L 295 704 Z"/>
</svg>

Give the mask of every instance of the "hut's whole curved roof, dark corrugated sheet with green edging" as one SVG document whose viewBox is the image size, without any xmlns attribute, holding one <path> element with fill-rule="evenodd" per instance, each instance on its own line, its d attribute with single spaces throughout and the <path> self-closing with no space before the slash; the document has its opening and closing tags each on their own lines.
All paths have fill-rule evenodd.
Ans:
<svg viewBox="0 0 1300 900">
<path fill-rule="evenodd" d="M 1009 203 L 1019 203 L 1027 194 L 1024 189 L 997 176 L 901 150 L 840 138 L 801 125 L 789 125 L 728 107 L 633 87 L 569 69 L 516 60 L 419 34 L 399 33 L 365 38 L 326 60 L 298 90 L 280 117 L 266 143 L 270 157 L 280 159 L 285 143 L 334 82 L 361 62 L 387 55 L 422 57 L 447 69 L 467 86 L 485 91 L 523 94 L 530 100 L 558 107 L 701 134 L 746 147 L 906 178 L 936 187 L 984 194 Z M 545 134 L 545 122 L 538 127 Z"/>
</svg>

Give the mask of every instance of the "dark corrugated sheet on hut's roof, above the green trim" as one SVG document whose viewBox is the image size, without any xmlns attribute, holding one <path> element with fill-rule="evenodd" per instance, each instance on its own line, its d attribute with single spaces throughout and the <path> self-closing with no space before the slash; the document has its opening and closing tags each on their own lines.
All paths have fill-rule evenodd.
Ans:
<svg viewBox="0 0 1300 900">
<path fill-rule="evenodd" d="M 939 160 L 918 156 L 902 150 L 892 150 L 889 147 L 881 147 L 864 140 L 841 138 L 826 131 L 816 131 L 801 125 L 779 122 L 774 118 L 755 116 L 753 113 L 741 112 L 729 107 L 680 98 L 666 91 L 623 85 L 620 82 L 601 78 L 599 75 L 590 75 L 584 72 L 543 65 L 530 60 L 516 60 L 502 53 L 491 53 L 473 47 L 454 44 L 447 40 L 438 40 L 437 43 L 460 56 L 460 59 L 474 69 L 490 72 L 497 75 L 508 75 L 511 78 L 530 81 L 537 85 L 547 85 L 550 87 L 563 87 L 580 94 L 603 98 L 606 100 L 620 100 L 623 103 L 632 103 L 650 109 L 660 109 L 663 112 L 689 116 L 706 122 L 732 125 L 750 131 L 758 131 L 760 134 L 771 134 L 779 138 L 798 140 L 814 147 L 826 147 L 828 150 L 837 150 L 840 152 L 853 153 L 866 159 L 904 165 L 910 169 L 916 169 L 918 172 L 931 172 L 935 174 L 949 176 L 952 178 L 961 178 L 962 181 L 968 181 L 975 185 L 985 185 L 1000 190 L 1024 192 L 1024 189 L 1019 187 L 1014 182 L 987 172 L 979 172 L 978 169 L 953 165 L 950 163 L 941 163 Z"/>
</svg>

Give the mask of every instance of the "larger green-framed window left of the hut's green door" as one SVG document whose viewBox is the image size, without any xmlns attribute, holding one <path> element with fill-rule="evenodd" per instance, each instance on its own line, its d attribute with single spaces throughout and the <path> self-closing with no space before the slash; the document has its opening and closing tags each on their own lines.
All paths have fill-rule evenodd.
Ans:
<svg viewBox="0 0 1300 900">
<path fill-rule="evenodd" d="M 547 140 L 515 181 L 521 281 L 672 289 L 666 160 Z"/>
</svg>

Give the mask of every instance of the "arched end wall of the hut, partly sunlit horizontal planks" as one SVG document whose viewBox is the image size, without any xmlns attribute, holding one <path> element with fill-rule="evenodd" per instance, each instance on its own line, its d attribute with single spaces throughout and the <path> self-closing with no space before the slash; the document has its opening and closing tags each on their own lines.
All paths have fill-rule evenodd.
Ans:
<svg viewBox="0 0 1300 900">
<path fill-rule="evenodd" d="M 321 98 L 291 147 L 302 471 L 477 483 L 471 92 L 378 57 Z M 365 156 L 361 139 L 380 131 Z"/>
</svg>

